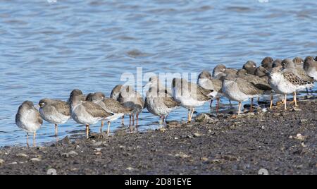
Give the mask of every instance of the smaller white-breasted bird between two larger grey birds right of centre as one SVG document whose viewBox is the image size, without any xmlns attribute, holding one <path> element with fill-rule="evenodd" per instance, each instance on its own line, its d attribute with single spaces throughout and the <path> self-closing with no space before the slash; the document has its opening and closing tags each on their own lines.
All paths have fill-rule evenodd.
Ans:
<svg viewBox="0 0 317 189">
<path fill-rule="evenodd" d="M 223 96 L 222 90 L 221 90 L 222 81 L 217 78 L 213 78 L 211 76 L 211 73 L 209 73 L 209 71 L 202 71 L 198 75 L 197 85 L 203 87 L 206 90 L 213 90 L 213 92 L 211 92 L 210 107 L 211 107 L 211 104 L 213 103 L 213 99 L 216 99 L 217 100 L 216 111 L 218 111 L 220 97 Z"/>
</svg>

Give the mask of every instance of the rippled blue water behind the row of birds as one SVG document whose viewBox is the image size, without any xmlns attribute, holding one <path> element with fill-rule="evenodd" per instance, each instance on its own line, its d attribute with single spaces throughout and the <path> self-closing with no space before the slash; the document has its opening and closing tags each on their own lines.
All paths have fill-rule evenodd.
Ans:
<svg viewBox="0 0 317 189">
<path fill-rule="evenodd" d="M 0 146 L 24 145 L 15 113 L 25 100 L 67 99 L 71 90 L 110 94 L 124 72 L 240 68 L 264 56 L 317 55 L 317 1 L 1 1 Z M 143 83 L 144 84 L 144 83 Z M 223 99 L 226 103 L 226 100 Z M 208 104 L 198 112 L 208 111 Z M 185 119 L 186 110 L 169 119 Z M 144 110 L 140 130 L 158 118 Z M 128 119 L 125 120 L 128 123 Z M 114 130 L 120 120 L 112 124 Z M 83 134 L 69 121 L 59 138 Z M 92 126 L 97 132 L 99 124 Z M 55 140 L 44 122 L 37 144 Z"/>
</svg>

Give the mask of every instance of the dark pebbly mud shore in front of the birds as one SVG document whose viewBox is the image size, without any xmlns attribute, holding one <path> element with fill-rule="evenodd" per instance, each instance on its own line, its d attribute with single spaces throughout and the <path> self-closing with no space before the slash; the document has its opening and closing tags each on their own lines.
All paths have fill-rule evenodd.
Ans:
<svg viewBox="0 0 317 189">
<path fill-rule="evenodd" d="M 64 138 L 49 147 L 0 149 L 0 174 L 317 173 L 317 102 L 241 116 L 200 114 L 166 130 Z"/>
</svg>

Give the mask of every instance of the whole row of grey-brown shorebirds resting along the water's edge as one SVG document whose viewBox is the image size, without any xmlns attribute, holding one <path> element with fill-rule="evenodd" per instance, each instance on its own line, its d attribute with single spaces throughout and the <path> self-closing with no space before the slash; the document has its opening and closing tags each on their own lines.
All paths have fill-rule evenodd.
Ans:
<svg viewBox="0 0 317 189">
<path fill-rule="evenodd" d="M 287 94 L 294 94 L 294 106 L 297 106 L 297 92 L 313 87 L 317 80 L 317 56 L 307 56 L 306 59 L 296 57 L 292 59 L 276 59 L 266 57 L 257 67 L 254 61 L 247 61 L 240 69 L 226 68 L 219 64 L 213 68 L 213 73 L 202 71 L 197 83 L 189 83 L 184 78 L 173 78 L 169 89 L 162 85 L 158 77 L 149 78 L 144 87 L 148 87 L 145 99 L 142 94 L 127 85 L 117 85 L 113 88 L 110 97 L 102 92 L 84 95 L 80 90 L 73 90 L 67 102 L 59 99 L 41 99 L 38 105 L 25 101 L 19 106 L 15 116 L 16 125 L 28 133 L 34 133 L 33 145 L 37 129 L 43 119 L 55 124 L 57 135 L 58 124 L 66 123 L 70 118 L 86 126 L 86 135 L 89 137 L 89 125 L 101 121 L 108 123 L 107 133 L 110 132 L 110 123 L 118 118 L 130 116 L 130 126 L 138 125 L 139 114 L 144 108 L 160 117 L 160 128 L 168 114 L 178 106 L 188 109 L 187 121 L 192 121 L 194 109 L 206 102 L 217 100 L 217 111 L 220 97 L 227 97 L 230 101 L 239 102 L 238 114 L 242 102 L 251 99 L 249 111 L 252 111 L 254 98 L 263 94 L 271 95 L 270 108 L 273 106 L 273 94 L 283 94 L 285 109 L 287 109 Z M 231 102 L 230 102 L 231 104 Z M 39 110 L 37 110 L 37 108 Z M 135 125 L 136 117 L 136 125 Z M 131 120 L 132 119 L 132 120 Z M 132 124 L 131 124 L 132 122 Z"/>
</svg>

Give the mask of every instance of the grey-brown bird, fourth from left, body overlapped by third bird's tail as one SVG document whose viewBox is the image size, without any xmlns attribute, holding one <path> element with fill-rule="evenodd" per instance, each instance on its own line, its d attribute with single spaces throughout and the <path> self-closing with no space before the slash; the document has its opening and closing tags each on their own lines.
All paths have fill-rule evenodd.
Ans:
<svg viewBox="0 0 317 189">
<path fill-rule="evenodd" d="M 120 104 L 120 102 L 118 102 L 115 99 L 106 97 L 104 93 L 102 92 L 89 93 L 87 94 L 86 100 L 89 102 L 94 102 L 95 104 L 98 104 L 99 106 L 101 106 L 101 108 L 113 114 L 113 116 L 108 116 L 106 118 L 106 121 L 108 121 L 107 134 L 110 133 L 110 124 L 112 121 L 115 121 L 116 119 L 120 117 L 123 117 L 125 114 L 131 114 L 132 112 L 132 109 L 124 107 L 122 104 Z M 102 131 L 103 126 L 104 126 L 104 122 L 101 121 L 100 132 Z"/>
</svg>

